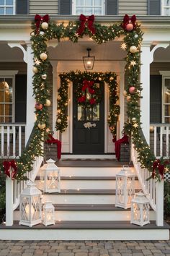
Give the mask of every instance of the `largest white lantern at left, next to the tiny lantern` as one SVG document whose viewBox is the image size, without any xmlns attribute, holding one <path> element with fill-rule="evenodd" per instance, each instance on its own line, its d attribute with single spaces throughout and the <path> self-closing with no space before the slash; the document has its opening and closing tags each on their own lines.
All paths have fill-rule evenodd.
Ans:
<svg viewBox="0 0 170 256">
<path fill-rule="evenodd" d="M 27 182 L 27 187 L 20 195 L 20 221 L 19 225 L 34 226 L 40 224 L 41 220 L 41 195 L 33 182 Z"/>
</svg>

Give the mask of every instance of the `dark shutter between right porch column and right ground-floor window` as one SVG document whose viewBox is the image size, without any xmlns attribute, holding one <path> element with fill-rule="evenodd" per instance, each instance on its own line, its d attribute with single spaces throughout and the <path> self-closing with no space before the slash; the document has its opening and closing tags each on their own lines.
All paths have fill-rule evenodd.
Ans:
<svg viewBox="0 0 170 256">
<path fill-rule="evenodd" d="M 161 75 L 151 75 L 150 77 L 150 121 L 151 123 L 161 123 Z"/>
</svg>

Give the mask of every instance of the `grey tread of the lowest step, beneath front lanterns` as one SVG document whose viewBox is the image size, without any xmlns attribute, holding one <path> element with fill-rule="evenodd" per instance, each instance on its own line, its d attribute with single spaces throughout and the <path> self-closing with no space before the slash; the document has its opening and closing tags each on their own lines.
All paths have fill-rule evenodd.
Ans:
<svg viewBox="0 0 170 256">
<path fill-rule="evenodd" d="M 151 221 L 145 226 L 138 226 L 131 224 L 130 221 L 55 221 L 55 225 L 43 226 L 38 224 L 36 226 L 22 226 L 19 221 L 14 221 L 13 226 L 0 225 L 0 229 L 170 229 L 170 226 L 164 222 L 164 226 L 156 226 L 156 221 Z"/>
</svg>

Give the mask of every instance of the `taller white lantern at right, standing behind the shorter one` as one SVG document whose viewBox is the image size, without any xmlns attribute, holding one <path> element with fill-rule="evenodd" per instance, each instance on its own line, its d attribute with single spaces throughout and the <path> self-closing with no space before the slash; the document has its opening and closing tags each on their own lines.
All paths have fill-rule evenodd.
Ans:
<svg viewBox="0 0 170 256">
<path fill-rule="evenodd" d="M 135 194 L 135 174 L 128 166 L 116 174 L 116 202 L 115 206 L 128 209 Z"/>
</svg>

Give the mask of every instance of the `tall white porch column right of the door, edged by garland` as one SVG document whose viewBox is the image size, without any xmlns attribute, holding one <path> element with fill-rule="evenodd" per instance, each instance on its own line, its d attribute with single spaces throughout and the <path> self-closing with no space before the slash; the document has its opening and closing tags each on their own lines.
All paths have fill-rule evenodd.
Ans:
<svg viewBox="0 0 170 256">
<path fill-rule="evenodd" d="M 140 99 L 140 110 L 143 134 L 149 144 L 149 127 L 150 127 L 150 43 L 143 43 L 141 46 L 141 68 L 140 82 L 142 83 L 142 92 Z"/>
</svg>

